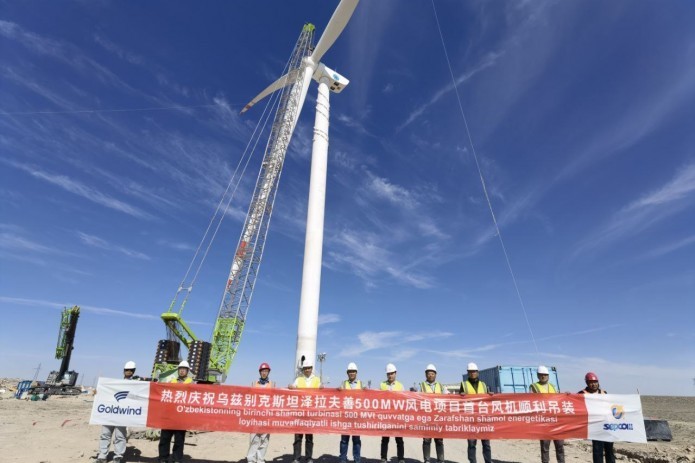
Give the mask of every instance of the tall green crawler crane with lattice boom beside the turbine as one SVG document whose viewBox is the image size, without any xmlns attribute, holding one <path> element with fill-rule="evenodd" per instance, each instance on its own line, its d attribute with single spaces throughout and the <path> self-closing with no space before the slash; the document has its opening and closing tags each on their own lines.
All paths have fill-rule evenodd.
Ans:
<svg viewBox="0 0 695 463">
<path fill-rule="evenodd" d="M 223 383 L 226 380 L 246 324 L 285 154 L 299 118 L 300 103 L 306 94 L 302 94 L 302 75 L 306 67 L 305 58 L 313 49 L 314 29 L 312 24 L 306 24 L 302 29 L 288 62 L 287 72 L 284 74 L 284 79 L 287 80 L 283 80 L 282 90 L 277 92 L 277 109 L 270 139 L 266 145 L 210 342 L 196 336 L 182 317 L 193 289 L 192 284 L 186 285 L 185 281 L 182 281 L 169 310 L 162 314 L 167 328 L 167 339 L 160 340 L 157 345 L 152 369 L 153 379 L 163 380 L 176 373 L 176 366 L 182 359 L 183 344 L 188 349 L 187 360 L 191 365 L 191 374 L 197 382 Z"/>
</svg>

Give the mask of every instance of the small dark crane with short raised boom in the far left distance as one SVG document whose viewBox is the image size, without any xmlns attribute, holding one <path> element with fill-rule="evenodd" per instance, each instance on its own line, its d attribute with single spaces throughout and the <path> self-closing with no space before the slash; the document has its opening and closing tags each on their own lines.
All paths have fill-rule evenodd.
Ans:
<svg viewBox="0 0 695 463">
<path fill-rule="evenodd" d="M 63 309 L 56 347 L 56 358 L 62 359 L 60 369 L 50 372 L 46 381 L 33 382 L 28 394 L 43 395 L 46 398 L 51 395 L 77 395 L 82 392 L 82 389 L 75 386 L 79 373 L 69 370 L 79 317 L 80 308 L 78 306 Z"/>
</svg>

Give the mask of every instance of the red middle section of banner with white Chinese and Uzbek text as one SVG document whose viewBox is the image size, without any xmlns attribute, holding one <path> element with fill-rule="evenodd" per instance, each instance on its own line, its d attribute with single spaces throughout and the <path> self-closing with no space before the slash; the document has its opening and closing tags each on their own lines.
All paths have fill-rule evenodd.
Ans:
<svg viewBox="0 0 695 463">
<path fill-rule="evenodd" d="M 417 392 L 150 385 L 147 426 L 251 433 L 455 439 L 587 438 L 578 394 Z"/>
</svg>

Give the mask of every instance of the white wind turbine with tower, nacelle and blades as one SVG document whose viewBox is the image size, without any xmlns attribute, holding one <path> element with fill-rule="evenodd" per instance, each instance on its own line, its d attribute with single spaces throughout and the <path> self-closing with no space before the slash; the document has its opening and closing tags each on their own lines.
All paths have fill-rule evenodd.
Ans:
<svg viewBox="0 0 695 463">
<path fill-rule="evenodd" d="M 321 63 L 323 55 L 331 48 L 347 25 L 359 0 L 342 0 L 333 12 L 326 30 L 321 35 L 311 56 L 304 59 L 304 66 L 297 72 L 280 77 L 258 94 L 241 111 L 246 112 L 266 96 L 302 79 L 300 111 L 297 111 L 292 130 L 304 105 L 309 83 L 313 78 L 319 84 L 316 98 L 316 119 L 311 151 L 311 180 L 309 184 L 309 206 L 307 211 L 306 242 L 304 247 L 304 270 L 302 292 L 299 303 L 297 327 L 297 351 L 295 367 L 301 368 L 307 360 L 313 365 L 316 359 L 318 335 L 319 294 L 321 291 L 321 258 L 323 252 L 323 216 L 326 206 L 326 169 L 328 165 L 328 119 L 330 115 L 329 90 L 340 93 L 349 81 Z M 298 73 L 303 74 L 297 75 Z"/>
</svg>

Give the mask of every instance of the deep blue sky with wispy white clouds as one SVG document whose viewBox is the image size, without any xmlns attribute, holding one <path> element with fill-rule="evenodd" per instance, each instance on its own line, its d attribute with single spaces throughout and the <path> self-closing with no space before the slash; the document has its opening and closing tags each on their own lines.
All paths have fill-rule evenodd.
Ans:
<svg viewBox="0 0 695 463">
<path fill-rule="evenodd" d="M 82 306 L 86 383 L 151 368 L 166 311 L 305 22 L 337 2 L 9 2 L 0 11 L 2 376 Z M 363 1 L 331 99 L 318 351 L 331 384 L 434 363 L 695 393 L 695 5 Z M 452 84 L 456 82 L 457 92 Z M 522 309 L 476 169 L 514 271 Z M 316 86 L 228 382 L 291 380 Z M 207 339 L 260 154 L 184 312 Z M 528 324 L 526 322 L 528 317 Z M 529 329 L 530 328 L 530 329 Z M 534 342 L 535 340 L 535 342 Z"/>
</svg>

